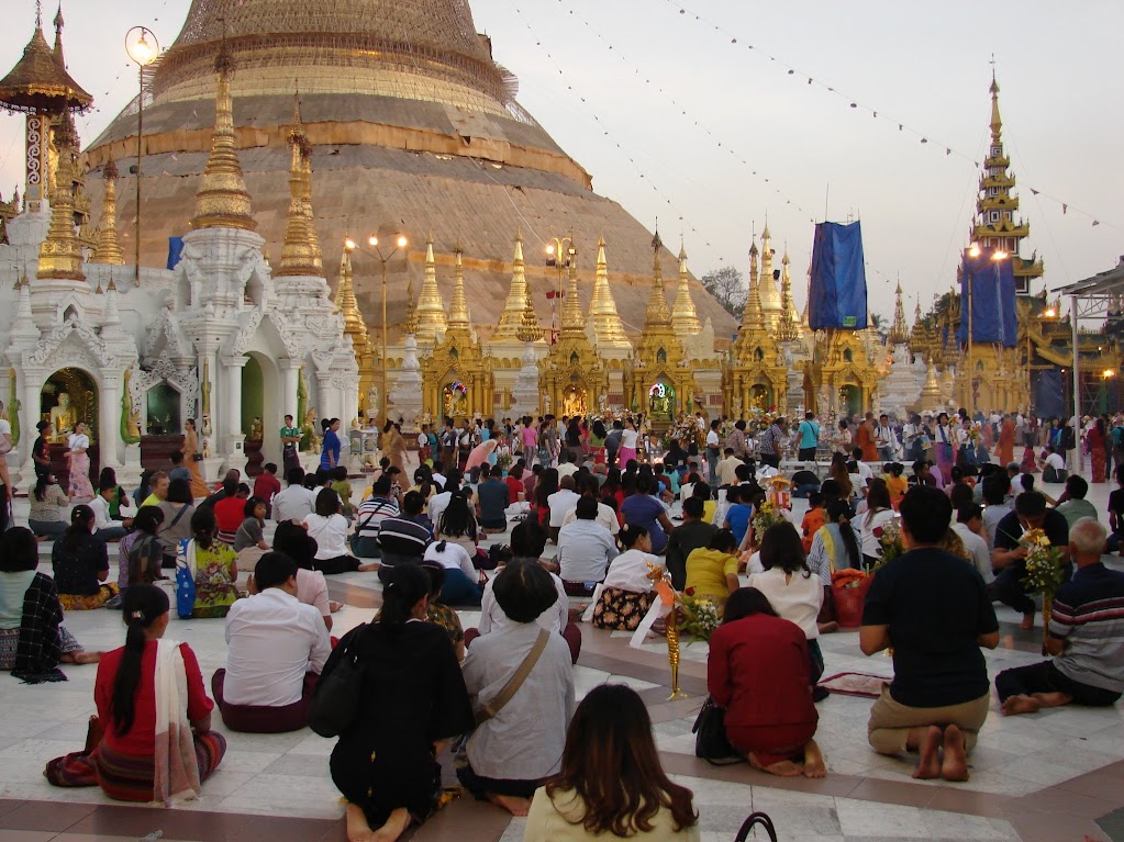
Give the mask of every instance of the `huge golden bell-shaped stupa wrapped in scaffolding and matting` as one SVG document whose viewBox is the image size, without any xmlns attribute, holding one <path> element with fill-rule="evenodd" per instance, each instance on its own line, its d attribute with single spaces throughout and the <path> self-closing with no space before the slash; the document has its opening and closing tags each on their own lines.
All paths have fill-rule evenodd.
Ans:
<svg viewBox="0 0 1124 842">
<path fill-rule="evenodd" d="M 592 253 L 604 234 L 613 246 L 610 281 L 622 321 L 640 332 L 651 232 L 597 195 L 590 174 L 519 106 L 516 79 L 493 61 L 468 0 L 192 0 L 146 92 L 144 265 L 164 265 L 167 238 L 189 230 L 184 209 L 194 203 L 211 150 L 214 66 L 224 38 L 235 68 L 235 146 L 257 231 L 273 249 L 285 240 L 299 86 L 324 250 L 333 254 L 348 235 L 363 241 L 371 232 L 400 231 L 409 238 L 405 257 L 389 264 L 392 326 L 405 322 L 407 282 L 426 289 L 426 236 L 433 231 L 430 266 L 441 296 L 450 300 L 460 240 L 472 315 L 487 339 L 507 299 L 510 238 L 522 226 L 540 319 L 550 320 L 545 291 L 556 283 L 544 265 L 545 241 L 572 231 L 579 248 Z M 136 123 L 130 106 L 85 150 L 89 167 L 100 174 L 110 161 L 133 157 Z M 120 171 L 118 240 L 132 254 L 135 187 L 127 167 Z M 101 177 L 88 183 L 96 211 L 105 184 Z M 357 253 L 353 263 L 360 309 L 377 323 L 381 268 Z M 580 282 L 589 300 L 592 273 Z M 717 335 L 732 333 L 733 319 L 691 283 L 698 317 L 711 318 Z"/>
</svg>

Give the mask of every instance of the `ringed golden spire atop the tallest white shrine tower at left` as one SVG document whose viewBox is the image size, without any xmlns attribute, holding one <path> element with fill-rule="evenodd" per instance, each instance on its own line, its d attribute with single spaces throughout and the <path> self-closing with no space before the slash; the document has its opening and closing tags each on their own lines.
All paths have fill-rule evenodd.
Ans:
<svg viewBox="0 0 1124 842">
<path fill-rule="evenodd" d="M 210 158 L 196 193 L 196 216 L 191 220 L 194 230 L 241 228 L 252 231 L 257 227 L 235 146 L 234 100 L 230 95 L 233 70 L 234 61 L 224 37 L 215 57 L 215 131 L 211 135 Z"/>
</svg>

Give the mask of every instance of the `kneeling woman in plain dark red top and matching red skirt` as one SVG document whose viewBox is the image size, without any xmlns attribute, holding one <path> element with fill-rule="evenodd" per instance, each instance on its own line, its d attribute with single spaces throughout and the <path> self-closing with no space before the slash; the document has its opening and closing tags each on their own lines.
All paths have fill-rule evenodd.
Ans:
<svg viewBox="0 0 1124 842">
<path fill-rule="evenodd" d="M 804 632 L 777 616 L 756 588 L 729 595 L 710 637 L 707 689 L 726 710 L 726 736 L 755 769 L 822 778 L 824 756 L 813 739 L 819 714 L 812 703 Z"/>
</svg>

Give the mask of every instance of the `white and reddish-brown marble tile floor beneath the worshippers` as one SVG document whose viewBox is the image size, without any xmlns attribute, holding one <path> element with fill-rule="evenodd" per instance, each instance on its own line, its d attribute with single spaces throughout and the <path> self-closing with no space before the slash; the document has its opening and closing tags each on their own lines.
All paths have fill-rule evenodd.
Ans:
<svg viewBox="0 0 1124 842">
<path fill-rule="evenodd" d="M 1060 488 L 1046 488 L 1057 494 Z M 1108 488 L 1089 498 L 1105 511 Z M 17 501 L 17 521 L 26 518 Z M 799 514 L 799 512 L 797 512 Z M 504 541 L 492 537 L 491 541 Z M 43 556 L 44 569 L 49 561 Z M 1114 562 L 1115 564 L 1115 562 Z M 345 603 L 336 632 L 369 620 L 380 601 L 377 577 L 333 577 L 333 597 Z M 577 605 L 577 601 L 574 601 Z M 999 610 L 1000 647 L 986 652 L 994 677 L 1039 660 L 1041 630 L 1023 632 L 1018 617 Z M 465 628 L 473 612 L 461 612 Z M 116 613 L 73 612 L 67 628 L 88 649 L 120 646 Z M 223 623 L 174 620 L 170 637 L 187 641 L 205 676 L 225 666 Z M 631 635 L 582 628 L 574 668 L 578 695 L 605 681 L 625 683 L 649 705 L 664 767 L 690 787 L 705 842 L 732 840 L 746 814 L 769 813 L 782 842 L 881 842 L 904 839 L 1106 842 L 1122 840 L 1109 814 L 1124 807 L 1124 727 L 1117 707 L 1066 707 L 1004 719 L 997 703 L 970 758 L 966 784 L 916 781 L 908 759 L 880 757 L 867 744 L 870 701 L 832 695 L 818 705 L 817 740 L 828 776 L 818 781 L 779 779 L 745 765 L 713 767 L 694 756 L 691 724 L 706 694 L 706 643 L 682 650 L 686 699 L 668 701 L 667 648 L 652 639 L 629 648 Z M 827 675 L 843 671 L 889 677 L 888 658 L 865 658 L 858 634 L 821 639 Z M 310 731 L 251 735 L 227 733 L 229 750 L 198 802 L 165 811 L 114 804 L 100 789 L 57 789 L 43 778 L 44 763 L 81 748 L 93 713 L 96 667 L 66 667 L 69 681 L 25 686 L 0 676 L 0 842 L 155 840 L 184 842 L 288 842 L 343 840 L 343 806 L 328 776 L 334 741 Z M 216 726 L 223 729 L 216 716 Z M 1098 818 L 1104 824 L 1098 824 Z M 461 798 L 413 832 L 425 840 L 516 842 L 523 822 L 490 805 Z M 753 839 L 754 836 L 751 836 Z M 764 839 L 758 832 L 755 839 Z"/>
</svg>

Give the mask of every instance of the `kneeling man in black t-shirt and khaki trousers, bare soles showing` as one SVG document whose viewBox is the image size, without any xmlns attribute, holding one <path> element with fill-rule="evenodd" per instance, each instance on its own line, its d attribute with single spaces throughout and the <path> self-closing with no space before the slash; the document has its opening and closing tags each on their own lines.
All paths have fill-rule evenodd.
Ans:
<svg viewBox="0 0 1124 842">
<path fill-rule="evenodd" d="M 894 648 L 894 681 L 870 708 L 868 739 L 880 754 L 918 751 L 915 778 L 967 780 L 990 702 L 980 647 L 998 646 L 999 625 L 984 578 L 939 546 L 949 497 L 917 486 L 900 511 L 908 551 L 874 575 L 859 631 L 863 655 Z"/>
</svg>

